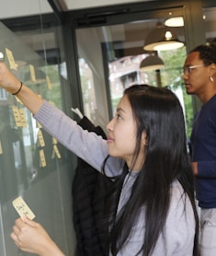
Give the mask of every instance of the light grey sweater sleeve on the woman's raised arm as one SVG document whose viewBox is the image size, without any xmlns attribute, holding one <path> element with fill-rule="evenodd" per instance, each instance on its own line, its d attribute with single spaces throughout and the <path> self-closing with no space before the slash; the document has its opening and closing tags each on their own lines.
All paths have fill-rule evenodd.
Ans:
<svg viewBox="0 0 216 256">
<path fill-rule="evenodd" d="M 101 136 L 81 128 L 74 120 L 69 118 L 46 100 L 34 118 L 43 128 L 55 137 L 62 145 L 82 158 L 93 168 L 101 171 L 104 159 L 108 156 L 107 141 Z M 118 175 L 120 160 L 109 157 L 106 165 L 106 174 L 110 177 Z"/>
</svg>

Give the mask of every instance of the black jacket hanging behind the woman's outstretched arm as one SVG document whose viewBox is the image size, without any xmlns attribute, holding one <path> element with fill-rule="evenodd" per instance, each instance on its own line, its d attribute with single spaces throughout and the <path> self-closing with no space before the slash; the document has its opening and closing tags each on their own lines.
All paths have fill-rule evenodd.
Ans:
<svg viewBox="0 0 216 256">
<path fill-rule="evenodd" d="M 79 125 L 106 138 L 99 126 L 86 117 Z M 78 158 L 73 181 L 74 229 L 82 256 L 108 255 L 108 225 L 104 221 L 104 202 L 110 180 Z"/>
</svg>

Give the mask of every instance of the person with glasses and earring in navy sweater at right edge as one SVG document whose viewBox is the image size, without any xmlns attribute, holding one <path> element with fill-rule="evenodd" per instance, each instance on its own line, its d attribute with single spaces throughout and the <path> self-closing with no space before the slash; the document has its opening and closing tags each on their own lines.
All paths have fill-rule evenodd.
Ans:
<svg viewBox="0 0 216 256">
<path fill-rule="evenodd" d="M 192 168 L 200 207 L 200 255 L 216 255 L 216 43 L 197 46 L 184 64 L 187 93 L 202 102 L 191 134 Z"/>
</svg>

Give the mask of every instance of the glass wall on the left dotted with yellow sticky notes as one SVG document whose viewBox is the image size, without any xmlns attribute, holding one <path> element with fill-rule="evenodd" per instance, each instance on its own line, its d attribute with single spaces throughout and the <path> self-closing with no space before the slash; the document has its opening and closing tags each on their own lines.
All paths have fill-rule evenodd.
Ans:
<svg viewBox="0 0 216 256">
<path fill-rule="evenodd" d="M 29 18 L 30 24 L 31 17 L 23 18 Z M 40 15 L 38 18 L 40 21 Z M 62 75 L 65 65 L 57 40 L 62 37 L 60 25 L 53 21 L 43 29 L 40 22 L 34 26 L 28 26 L 28 22 L 24 27 L 9 20 L 0 22 L 0 52 L 20 81 L 63 109 L 67 81 Z M 5 24 L 10 24 L 10 29 Z M 35 122 L 15 96 L 3 89 L 0 104 L 0 255 L 27 255 L 10 239 L 18 217 L 12 201 L 19 195 L 65 255 L 74 255 L 73 172 L 68 152 Z"/>
</svg>

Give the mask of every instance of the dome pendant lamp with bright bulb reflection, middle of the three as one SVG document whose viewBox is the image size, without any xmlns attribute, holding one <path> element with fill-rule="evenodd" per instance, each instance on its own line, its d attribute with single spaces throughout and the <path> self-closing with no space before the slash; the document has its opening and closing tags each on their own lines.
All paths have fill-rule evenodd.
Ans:
<svg viewBox="0 0 216 256">
<path fill-rule="evenodd" d="M 147 35 L 143 49 L 145 51 L 167 51 L 180 48 L 184 45 L 179 41 L 173 29 L 158 22 L 156 28 Z"/>
</svg>

